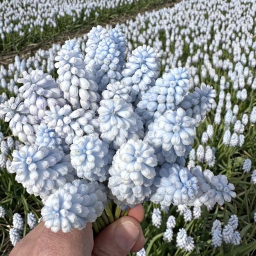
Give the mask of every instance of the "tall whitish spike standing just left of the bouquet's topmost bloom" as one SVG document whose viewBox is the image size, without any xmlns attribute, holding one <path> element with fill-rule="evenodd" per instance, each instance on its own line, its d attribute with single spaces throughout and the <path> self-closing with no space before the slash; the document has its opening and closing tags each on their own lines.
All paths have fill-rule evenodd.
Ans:
<svg viewBox="0 0 256 256">
<path fill-rule="evenodd" d="M 74 40 L 66 40 L 60 51 L 57 52 L 54 65 L 57 68 L 59 87 L 63 96 L 74 109 L 96 110 L 100 96 L 97 93 L 98 85 L 95 76 L 85 68 L 84 55 L 79 43 Z"/>
</svg>

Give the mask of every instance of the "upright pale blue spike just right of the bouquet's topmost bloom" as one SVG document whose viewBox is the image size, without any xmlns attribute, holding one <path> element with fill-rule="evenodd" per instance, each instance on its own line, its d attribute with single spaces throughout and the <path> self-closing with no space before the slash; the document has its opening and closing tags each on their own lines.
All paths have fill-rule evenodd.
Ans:
<svg viewBox="0 0 256 256">
<path fill-rule="evenodd" d="M 159 69 L 159 54 L 152 47 L 143 44 L 132 50 L 122 70 L 121 82 L 130 87 L 133 101 L 138 102 L 155 84 Z"/>
</svg>

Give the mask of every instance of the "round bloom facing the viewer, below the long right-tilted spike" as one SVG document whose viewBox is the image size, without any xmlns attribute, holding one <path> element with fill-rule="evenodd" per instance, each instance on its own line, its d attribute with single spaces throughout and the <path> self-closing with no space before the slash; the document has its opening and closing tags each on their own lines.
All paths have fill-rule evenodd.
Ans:
<svg viewBox="0 0 256 256">
<path fill-rule="evenodd" d="M 195 137 L 195 120 L 185 110 L 167 110 L 148 126 L 144 140 L 155 149 L 161 148 L 165 161 L 173 163 L 177 156 L 186 157 Z M 156 150 L 157 151 L 157 150 Z M 158 156 L 158 161 L 160 156 Z"/>
</svg>

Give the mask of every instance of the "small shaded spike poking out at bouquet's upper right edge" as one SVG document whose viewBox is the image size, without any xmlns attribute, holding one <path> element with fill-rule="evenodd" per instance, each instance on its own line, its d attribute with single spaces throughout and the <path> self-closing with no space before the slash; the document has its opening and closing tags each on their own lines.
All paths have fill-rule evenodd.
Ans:
<svg viewBox="0 0 256 256">
<path fill-rule="evenodd" d="M 204 119 L 206 112 L 215 106 L 216 90 L 212 86 L 201 84 L 193 92 L 185 95 L 179 106 L 186 110 L 186 115 L 195 119 L 196 125 Z"/>
</svg>

